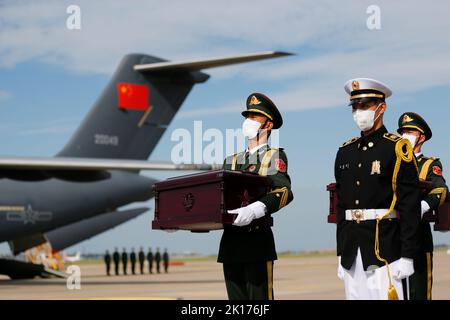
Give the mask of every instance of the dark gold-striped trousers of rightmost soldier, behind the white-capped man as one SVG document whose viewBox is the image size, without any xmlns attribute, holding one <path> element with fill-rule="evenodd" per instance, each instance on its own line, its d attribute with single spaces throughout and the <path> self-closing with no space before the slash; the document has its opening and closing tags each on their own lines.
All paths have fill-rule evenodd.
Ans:
<svg viewBox="0 0 450 320">
<path fill-rule="evenodd" d="M 409 277 L 409 299 L 431 300 L 433 253 L 422 252 L 414 260 L 414 274 Z"/>
</svg>

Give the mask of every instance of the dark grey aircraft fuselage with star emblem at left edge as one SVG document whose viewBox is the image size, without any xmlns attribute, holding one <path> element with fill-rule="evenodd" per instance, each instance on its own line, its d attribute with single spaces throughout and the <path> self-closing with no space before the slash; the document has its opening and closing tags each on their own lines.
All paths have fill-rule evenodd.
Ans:
<svg viewBox="0 0 450 320">
<path fill-rule="evenodd" d="M 156 182 L 126 171 L 25 176 L 22 179 L 20 172 L 10 172 L 0 178 L 0 242 L 48 232 L 132 202 L 146 201 L 152 198 Z"/>
</svg>

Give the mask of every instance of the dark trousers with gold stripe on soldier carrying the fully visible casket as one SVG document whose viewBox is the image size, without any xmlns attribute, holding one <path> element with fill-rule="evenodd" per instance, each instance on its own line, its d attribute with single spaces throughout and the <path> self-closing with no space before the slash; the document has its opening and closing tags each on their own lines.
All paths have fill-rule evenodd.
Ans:
<svg viewBox="0 0 450 320">
<path fill-rule="evenodd" d="M 230 300 L 273 300 L 273 261 L 224 263 Z"/>
</svg>

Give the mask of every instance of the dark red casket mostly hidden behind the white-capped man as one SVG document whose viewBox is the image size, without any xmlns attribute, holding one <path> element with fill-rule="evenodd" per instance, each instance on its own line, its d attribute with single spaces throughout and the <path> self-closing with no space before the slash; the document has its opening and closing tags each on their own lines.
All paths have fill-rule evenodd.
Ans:
<svg viewBox="0 0 450 320">
<path fill-rule="evenodd" d="M 421 181 L 420 188 L 422 192 L 426 192 L 427 190 L 431 190 L 432 186 L 429 182 Z M 336 183 L 330 183 L 327 185 L 327 191 L 330 193 L 330 209 L 328 212 L 328 223 L 336 223 L 337 222 L 337 203 L 338 196 L 336 192 Z M 449 197 L 447 197 L 447 201 L 439 207 L 437 212 L 429 211 L 424 214 L 423 219 L 434 222 L 434 230 L 435 231 L 449 231 L 450 230 L 450 202 Z"/>
</svg>

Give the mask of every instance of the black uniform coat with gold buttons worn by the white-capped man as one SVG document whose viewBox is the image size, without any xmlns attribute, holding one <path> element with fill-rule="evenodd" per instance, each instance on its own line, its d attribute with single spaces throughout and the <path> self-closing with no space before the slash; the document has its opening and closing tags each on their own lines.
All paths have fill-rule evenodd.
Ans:
<svg viewBox="0 0 450 320">
<path fill-rule="evenodd" d="M 402 139 L 383 126 L 369 136 L 346 142 L 338 151 L 335 177 L 339 197 L 337 215 L 337 254 L 350 269 L 358 248 L 364 269 L 383 266 L 374 251 L 375 220 L 346 220 L 348 209 L 389 208 L 393 199 L 392 177 L 397 162 L 396 146 Z M 408 146 L 399 150 L 409 153 Z M 418 252 L 417 230 L 420 220 L 420 189 L 414 161 L 400 162 L 395 209 L 399 219 L 380 222 L 380 255 L 389 263 L 400 257 L 415 258 Z"/>
</svg>

